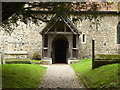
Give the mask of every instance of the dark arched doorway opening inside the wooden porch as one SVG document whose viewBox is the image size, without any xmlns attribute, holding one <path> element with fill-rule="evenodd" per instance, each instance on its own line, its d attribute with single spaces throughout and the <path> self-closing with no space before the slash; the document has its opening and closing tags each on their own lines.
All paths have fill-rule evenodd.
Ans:
<svg viewBox="0 0 120 90">
<path fill-rule="evenodd" d="M 68 41 L 63 36 L 57 36 L 52 43 L 52 62 L 67 63 Z"/>
</svg>

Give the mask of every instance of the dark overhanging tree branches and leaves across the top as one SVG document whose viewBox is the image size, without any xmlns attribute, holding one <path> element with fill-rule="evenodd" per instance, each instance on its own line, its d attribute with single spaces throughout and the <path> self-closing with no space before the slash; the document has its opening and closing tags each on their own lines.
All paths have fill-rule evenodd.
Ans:
<svg viewBox="0 0 120 90">
<path fill-rule="evenodd" d="M 20 20 L 27 24 L 29 20 L 37 23 L 38 20 L 48 22 L 49 14 L 70 15 L 78 11 L 96 11 L 102 6 L 109 7 L 111 3 L 96 2 L 3 2 L 2 3 L 2 27 L 6 31 L 13 30 L 13 25 L 17 26 Z"/>
</svg>

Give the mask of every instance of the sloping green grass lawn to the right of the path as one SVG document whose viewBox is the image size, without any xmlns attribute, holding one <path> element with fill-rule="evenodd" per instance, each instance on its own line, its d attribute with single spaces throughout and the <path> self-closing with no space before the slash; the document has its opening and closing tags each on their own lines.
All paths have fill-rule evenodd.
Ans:
<svg viewBox="0 0 120 90">
<path fill-rule="evenodd" d="M 118 65 L 109 64 L 92 70 L 91 59 L 83 59 L 72 67 L 88 88 L 120 88 L 118 82 Z"/>
</svg>

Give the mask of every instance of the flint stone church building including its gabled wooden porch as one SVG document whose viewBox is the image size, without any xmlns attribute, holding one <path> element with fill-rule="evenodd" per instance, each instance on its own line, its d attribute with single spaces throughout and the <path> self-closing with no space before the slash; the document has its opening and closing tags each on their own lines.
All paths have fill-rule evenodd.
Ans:
<svg viewBox="0 0 120 90">
<path fill-rule="evenodd" d="M 0 28 L 0 51 L 9 54 L 8 58 L 37 54 L 50 64 L 71 64 L 91 57 L 94 39 L 95 55 L 120 54 L 120 13 L 80 11 L 70 16 L 55 13 L 49 18 L 47 23 L 39 20 L 39 25 L 18 21 L 10 35 Z"/>
</svg>

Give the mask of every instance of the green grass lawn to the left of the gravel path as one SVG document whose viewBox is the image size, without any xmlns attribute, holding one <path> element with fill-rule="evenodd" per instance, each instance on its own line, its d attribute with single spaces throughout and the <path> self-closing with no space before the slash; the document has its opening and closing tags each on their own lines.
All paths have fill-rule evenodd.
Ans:
<svg viewBox="0 0 120 90">
<path fill-rule="evenodd" d="M 46 67 L 34 64 L 2 65 L 3 88 L 38 88 Z"/>
</svg>

